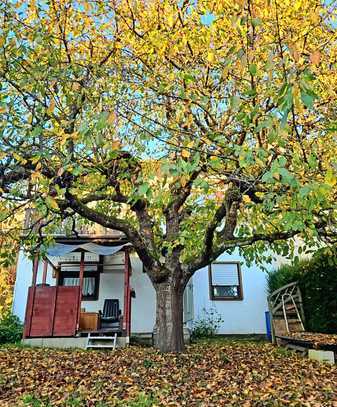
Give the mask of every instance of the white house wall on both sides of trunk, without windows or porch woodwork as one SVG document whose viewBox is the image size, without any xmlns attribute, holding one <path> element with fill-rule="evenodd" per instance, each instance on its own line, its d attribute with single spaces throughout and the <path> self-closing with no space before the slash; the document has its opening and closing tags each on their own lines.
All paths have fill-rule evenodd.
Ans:
<svg viewBox="0 0 337 407">
<path fill-rule="evenodd" d="M 243 261 L 234 253 L 222 255 L 219 261 Z M 115 263 L 115 265 L 114 265 Z M 117 263 L 117 264 L 116 264 Z M 82 308 L 86 311 L 99 311 L 103 309 L 105 298 L 118 298 L 120 308 L 123 310 L 124 272 L 121 258 L 106 258 L 103 273 L 100 275 L 99 298 L 97 301 L 83 301 Z M 136 292 L 136 298 L 132 299 L 131 331 L 133 333 L 152 332 L 155 324 L 155 291 L 148 278 L 143 273 L 142 263 L 136 255 L 131 255 L 132 275 L 131 287 Z M 267 310 L 266 274 L 256 265 L 241 266 L 243 300 L 242 301 L 211 301 L 209 297 L 208 268 L 205 267 L 195 273 L 187 287 L 189 295 L 185 299 L 185 320 L 190 325 L 191 319 L 198 319 L 203 315 L 203 308 L 215 308 L 224 320 L 219 333 L 222 334 L 252 334 L 265 333 L 265 316 Z M 39 265 L 37 283 L 41 283 L 43 273 L 42 263 Z M 19 254 L 17 277 L 14 288 L 13 313 L 22 321 L 25 317 L 28 287 L 32 280 L 32 263 Z M 52 270 L 48 268 L 47 283 L 56 284 L 52 277 Z M 187 305 L 188 304 L 188 305 Z"/>
</svg>

